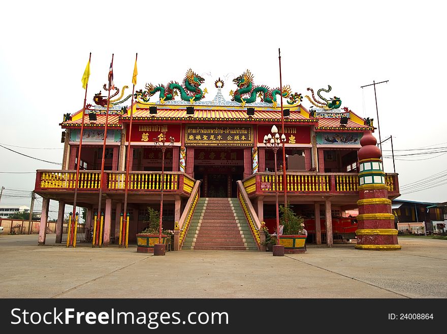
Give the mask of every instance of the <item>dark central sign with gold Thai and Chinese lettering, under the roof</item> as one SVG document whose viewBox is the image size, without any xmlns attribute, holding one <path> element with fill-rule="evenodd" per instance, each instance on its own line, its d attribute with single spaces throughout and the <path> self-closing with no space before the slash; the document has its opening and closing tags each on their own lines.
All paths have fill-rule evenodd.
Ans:
<svg viewBox="0 0 447 334">
<path fill-rule="evenodd" d="M 247 126 L 187 125 L 185 145 L 189 146 L 252 146 L 253 128 Z"/>
</svg>

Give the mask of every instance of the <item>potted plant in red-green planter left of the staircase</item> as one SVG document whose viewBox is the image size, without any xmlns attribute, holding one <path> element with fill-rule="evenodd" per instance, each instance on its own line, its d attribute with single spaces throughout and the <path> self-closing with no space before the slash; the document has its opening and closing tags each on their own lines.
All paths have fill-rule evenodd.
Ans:
<svg viewBox="0 0 447 334">
<path fill-rule="evenodd" d="M 137 252 L 153 253 L 154 245 L 158 244 L 159 228 L 160 228 L 160 212 L 151 208 L 147 208 L 147 227 L 140 233 L 137 233 Z M 162 231 L 162 244 L 166 244 L 168 235 Z"/>
</svg>

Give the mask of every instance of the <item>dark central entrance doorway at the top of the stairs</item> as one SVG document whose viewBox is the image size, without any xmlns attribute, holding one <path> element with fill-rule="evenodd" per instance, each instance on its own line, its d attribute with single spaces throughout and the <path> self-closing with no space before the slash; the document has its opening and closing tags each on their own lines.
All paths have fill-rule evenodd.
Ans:
<svg viewBox="0 0 447 334">
<path fill-rule="evenodd" d="M 236 181 L 244 178 L 241 148 L 196 148 L 194 177 L 202 180 L 201 197 L 236 197 Z"/>
</svg>

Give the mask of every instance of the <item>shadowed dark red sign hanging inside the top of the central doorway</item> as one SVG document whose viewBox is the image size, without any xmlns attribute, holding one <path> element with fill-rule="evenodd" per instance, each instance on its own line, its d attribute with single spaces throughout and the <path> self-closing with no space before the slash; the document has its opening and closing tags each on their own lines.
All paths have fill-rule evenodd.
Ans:
<svg viewBox="0 0 447 334">
<path fill-rule="evenodd" d="M 197 166 L 243 166 L 244 151 L 237 148 L 196 148 L 194 164 Z"/>
</svg>

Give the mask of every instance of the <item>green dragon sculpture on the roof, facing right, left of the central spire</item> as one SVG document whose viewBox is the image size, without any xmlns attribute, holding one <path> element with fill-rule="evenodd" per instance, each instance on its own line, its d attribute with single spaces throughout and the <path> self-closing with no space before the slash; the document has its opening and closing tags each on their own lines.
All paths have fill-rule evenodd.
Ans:
<svg viewBox="0 0 447 334">
<path fill-rule="evenodd" d="M 159 92 L 159 100 L 162 104 L 165 103 L 165 101 L 174 100 L 178 95 L 180 95 L 180 98 L 183 101 L 194 103 L 202 100 L 205 97 L 205 94 L 208 93 L 206 88 L 202 90 L 199 87 L 204 81 L 204 78 L 189 69 L 186 72 L 182 85 L 177 81 L 171 81 L 166 86 L 163 84 L 154 86 L 151 83 L 146 83 L 146 90 L 138 90 L 135 93 L 135 98 L 139 102 L 149 102 L 150 97 Z M 190 92 L 190 95 L 186 92 Z"/>
</svg>

